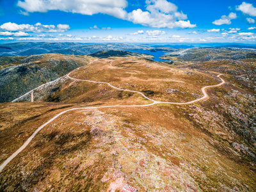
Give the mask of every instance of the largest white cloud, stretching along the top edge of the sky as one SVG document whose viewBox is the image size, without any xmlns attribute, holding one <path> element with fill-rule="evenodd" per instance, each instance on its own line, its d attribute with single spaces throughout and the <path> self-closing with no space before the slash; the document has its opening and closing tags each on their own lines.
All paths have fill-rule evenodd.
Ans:
<svg viewBox="0 0 256 192">
<path fill-rule="evenodd" d="M 178 7 L 166 0 L 146 0 L 146 10 L 133 10 L 127 13 L 126 0 L 20 0 L 17 6 L 26 12 L 47 12 L 60 10 L 63 12 L 93 15 L 104 13 L 118 19 L 129 20 L 134 24 L 150 26 L 153 28 L 195 28 L 187 15 L 178 12 Z"/>
</svg>

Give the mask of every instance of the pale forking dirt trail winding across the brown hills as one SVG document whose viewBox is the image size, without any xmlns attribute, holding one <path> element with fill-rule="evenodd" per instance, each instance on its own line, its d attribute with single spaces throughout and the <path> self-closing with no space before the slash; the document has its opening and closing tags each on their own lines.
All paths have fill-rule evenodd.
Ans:
<svg viewBox="0 0 256 192">
<path fill-rule="evenodd" d="M 99 59 L 95 60 L 95 61 L 98 61 Z M 89 64 L 95 62 L 95 61 L 92 61 L 90 62 Z M 156 64 L 153 64 L 153 65 L 156 65 Z M 159 67 L 164 67 L 164 68 L 169 68 L 169 67 L 165 67 L 165 66 L 161 66 L 161 65 L 157 65 Z M 83 66 L 84 67 L 84 66 Z M 79 67 L 81 68 L 81 67 Z M 76 70 L 78 70 L 79 68 L 76 68 Z M 72 72 L 74 72 L 75 70 L 73 70 Z M 14 159 L 24 148 L 26 148 L 28 146 L 28 144 L 31 142 L 31 140 L 36 136 L 36 134 L 41 131 L 41 129 L 43 129 L 46 125 L 50 124 L 53 120 L 55 120 L 56 118 L 58 118 L 60 115 L 63 115 L 64 113 L 67 113 L 68 111 L 74 111 L 74 110 L 81 110 L 81 109 L 100 109 L 100 108 L 140 108 L 140 107 L 147 107 L 147 106 L 152 106 L 154 104 L 178 104 L 178 105 L 184 105 L 184 104 L 193 104 L 194 102 L 198 102 L 199 100 L 204 100 L 206 99 L 207 97 L 209 97 L 207 95 L 207 93 L 205 92 L 205 90 L 207 88 L 211 88 L 211 87 L 216 87 L 216 86 L 221 86 L 221 84 L 224 84 L 225 81 L 223 79 L 221 79 L 221 75 L 222 74 L 219 74 L 217 77 L 220 78 L 221 80 L 221 83 L 220 84 L 216 84 L 216 85 L 210 85 L 210 86 L 204 86 L 201 90 L 202 92 L 204 93 L 204 96 L 199 98 L 199 99 L 196 99 L 196 100 L 191 100 L 189 102 L 162 102 L 162 101 L 157 101 L 157 100 L 153 100 L 153 99 L 150 99 L 148 98 L 146 95 L 144 95 L 143 93 L 141 92 L 136 92 L 136 91 L 132 91 L 132 90 L 124 90 L 124 89 L 121 89 L 121 88 L 117 88 L 116 86 L 113 86 L 111 85 L 110 83 L 107 83 L 107 82 L 102 82 L 102 81 L 91 81 L 91 80 L 84 80 L 84 79 L 76 79 L 74 77 L 70 77 L 70 74 L 72 73 L 68 73 L 67 74 L 67 77 L 72 79 L 72 80 L 75 80 L 75 81 L 87 81 L 87 82 L 92 82 L 92 83 L 100 83 L 100 84 L 108 84 L 108 86 L 110 86 L 111 88 L 115 88 L 116 90 L 121 90 L 121 91 L 125 91 L 125 92 L 134 92 L 134 93 L 139 93 L 140 95 L 142 95 L 145 99 L 148 99 L 148 100 L 151 100 L 152 103 L 151 104 L 145 104 L 145 105 L 134 105 L 134 106 L 99 106 L 99 107 L 88 107 L 88 108 L 72 108 L 72 109 L 68 109 L 66 111 L 62 111 L 61 113 L 59 113 L 58 115 L 52 117 L 50 120 L 48 120 L 45 124 L 41 125 L 40 127 L 38 127 L 38 129 L 36 129 L 36 131 L 28 138 L 28 140 L 16 151 L 12 154 L 12 156 L 8 157 L 8 159 L 6 159 L 4 161 L 3 164 L 1 164 L 0 166 L 0 172 L 4 169 L 4 167 L 10 163 L 10 161 L 12 161 L 12 159 Z M 33 92 L 31 92 L 31 102 L 32 101 L 32 95 L 33 95 Z"/>
</svg>

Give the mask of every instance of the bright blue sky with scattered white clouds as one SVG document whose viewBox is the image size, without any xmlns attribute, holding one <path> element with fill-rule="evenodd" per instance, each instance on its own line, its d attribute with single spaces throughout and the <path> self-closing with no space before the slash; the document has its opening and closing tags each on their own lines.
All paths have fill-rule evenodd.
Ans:
<svg viewBox="0 0 256 192">
<path fill-rule="evenodd" d="M 255 40 L 255 0 L 0 0 L 1 43 Z"/>
</svg>

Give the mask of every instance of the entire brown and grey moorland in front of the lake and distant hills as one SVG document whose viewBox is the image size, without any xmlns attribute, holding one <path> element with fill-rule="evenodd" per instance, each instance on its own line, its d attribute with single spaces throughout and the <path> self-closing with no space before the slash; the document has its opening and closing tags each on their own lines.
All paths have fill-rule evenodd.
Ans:
<svg viewBox="0 0 256 192">
<path fill-rule="evenodd" d="M 0 164 L 67 112 L 6 164 L 0 191 L 256 191 L 255 52 L 1 57 Z"/>
</svg>

